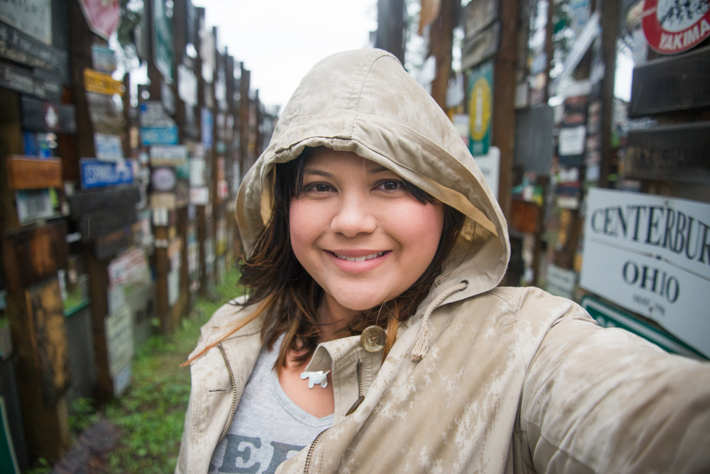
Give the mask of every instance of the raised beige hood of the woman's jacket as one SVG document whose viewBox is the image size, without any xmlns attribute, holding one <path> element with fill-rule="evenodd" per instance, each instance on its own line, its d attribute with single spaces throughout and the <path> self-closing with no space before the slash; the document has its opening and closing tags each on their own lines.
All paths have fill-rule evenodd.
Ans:
<svg viewBox="0 0 710 474">
<path fill-rule="evenodd" d="M 236 218 L 247 254 L 271 214 L 274 165 L 320 145 L 377 162 L 466 215 L 457 248 L 424 304 L 461 280 L 469 286 L 447 302 L 501 282 L 510 245 L 498 202 L 446 114 L 383 50 L 326 57 L 301 80 L 239 188 Z"/>
</svg>

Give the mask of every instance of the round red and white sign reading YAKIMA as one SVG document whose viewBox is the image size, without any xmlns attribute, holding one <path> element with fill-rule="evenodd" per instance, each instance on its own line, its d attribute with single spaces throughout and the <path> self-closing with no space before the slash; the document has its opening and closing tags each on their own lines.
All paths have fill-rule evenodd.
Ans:
<svg viewBox="0 0 710 474">
<path fill-rule="evenodd" d="M 710 36 L 710 3 L 703 0 L 645 0 L 643 33 L 664 55 L 682 53 Z"/>
</svg>

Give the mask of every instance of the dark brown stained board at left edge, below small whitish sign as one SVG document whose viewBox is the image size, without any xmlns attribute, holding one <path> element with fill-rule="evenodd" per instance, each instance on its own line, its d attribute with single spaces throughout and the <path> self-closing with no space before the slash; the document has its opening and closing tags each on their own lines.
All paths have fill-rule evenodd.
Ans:
<svg viewBox="0 0 710 474">
<path fill-rule="evenodd" d="M 4 236 L 6 290 L 21 291 L 67 268 L 67 223 L 50 223 Z"/>
</svg>

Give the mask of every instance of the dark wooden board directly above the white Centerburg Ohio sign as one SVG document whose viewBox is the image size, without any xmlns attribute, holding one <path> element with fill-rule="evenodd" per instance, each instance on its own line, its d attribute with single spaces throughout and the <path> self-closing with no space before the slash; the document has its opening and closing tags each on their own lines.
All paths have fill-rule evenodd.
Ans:
<svg viewBox="0 0 710 474">
<path fill-rule="evenodd" d="M 710 122 L 628 133 L 624 176 L 633 180 L 710 182 Z"/>
</svg>

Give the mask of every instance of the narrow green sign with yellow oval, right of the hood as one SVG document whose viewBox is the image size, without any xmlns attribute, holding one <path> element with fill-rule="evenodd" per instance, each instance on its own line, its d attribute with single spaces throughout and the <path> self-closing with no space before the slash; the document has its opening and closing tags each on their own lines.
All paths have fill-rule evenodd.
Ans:
<svg viewBox="0 0 710 474">
<path fill-rule="evenodd" d="M 486 155 L 491 145 L 493 120 L 493 60 L 482 62 L 469 72 L 469 151 Z"/>
</svg>

